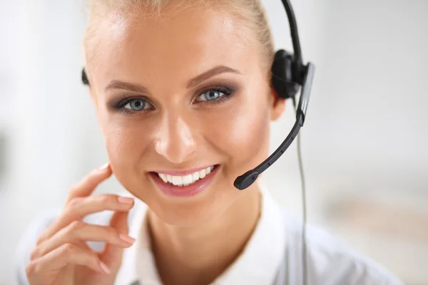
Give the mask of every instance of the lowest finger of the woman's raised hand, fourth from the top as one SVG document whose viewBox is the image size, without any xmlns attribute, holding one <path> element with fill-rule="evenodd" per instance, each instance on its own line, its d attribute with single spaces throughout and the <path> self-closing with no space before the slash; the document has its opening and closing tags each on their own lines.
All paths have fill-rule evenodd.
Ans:
<svg viewBox="0 0 428 285">
<path fill-rule="evenodd" d="M 43 257 L 31 261 L 26 266 L 26 274 L 30 280 L 31 276 L 35 275 L 43 274 L 48 276 L 49 273 L 57 272 L 68 264 L 88 266 L 100 273 L 106 273 L 106 266 L 101 264 L 98 254 L 87 249 L 82 249 L 81 247 L 76 247 L 74 244 L 63 244 Z"/>
</svg>

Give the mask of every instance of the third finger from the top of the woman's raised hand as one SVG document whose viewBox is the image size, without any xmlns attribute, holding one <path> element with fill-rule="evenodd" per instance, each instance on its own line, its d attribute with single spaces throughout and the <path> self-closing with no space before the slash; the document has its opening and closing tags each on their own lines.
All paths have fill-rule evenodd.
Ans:
<svg viewBox="0 0 428 285">
<path fill-rule="evenodd" d="M 81 242 L 106 242 L 118 247 L 131 247 L 133 244 L 131 237 L 126 237 L 126 235 L 119 233 L 113 227 L 74 221 L 36 247 L 34 252 L 31 253 L 31 259 L 42 257 L 48 252 L 61 247 L 62 244 L 77 244 Z"/>
</svg>

